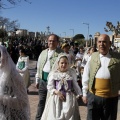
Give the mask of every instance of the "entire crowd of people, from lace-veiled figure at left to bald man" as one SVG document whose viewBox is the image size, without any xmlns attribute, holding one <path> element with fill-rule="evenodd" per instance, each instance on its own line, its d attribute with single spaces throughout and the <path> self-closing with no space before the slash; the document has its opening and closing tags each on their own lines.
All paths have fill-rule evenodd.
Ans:
<svg viewBox="0 0 120 120">
<path fill-rule="evenodd" d="M 0 72 L 1 78 L 5 80 L 0 82 L 2 120 L 12 120 L 12 117 L 17 120 L 18 116 L 20 120 L 30 119 L 27 89 L 30 85 L 29 59 L 32 57 L 37 60 L 35 79 L 39 93 L 35 120 L 81 120 L 77 101 L 79 98 L 87 105 L 87 120 L 117 119 L 120 53 L 113 49 L 108 35 L 101 34 L 98 37 L 97 48 L 80 46 L 78 43 L 71 44 L 68 41 L 60 44 L 56 34 L 48 36 L 47 46 L 44 47 L 40 42 L 31 42 L 31 46 L 36 46 L 33 52 L 29 52 L 27 42 L 23 43 L 18 44 L 14 41 L 14 44 L 8 44 L 7 49 L 4 44 L 0 45 Z M 5 76 L 3 73 L 7 69 Z M 20 83 L 17 77 L 23 82 Z M 17 85 L 17 82 L 20 84 Z M 23 96 L 23 104 L 19 106 L 18 103 Z M 8 101 L 3 104 L 6 97 L 8 101 L 14 99 L 12 102 L 17 105 L 10 106 Z M 3 110 L 4 107 L 8 110 L 9 116 Z M 16 112 L 10 112 L 12 109 Z M 24 119 L 17 111 L 21 112 Z"/>
</svg>

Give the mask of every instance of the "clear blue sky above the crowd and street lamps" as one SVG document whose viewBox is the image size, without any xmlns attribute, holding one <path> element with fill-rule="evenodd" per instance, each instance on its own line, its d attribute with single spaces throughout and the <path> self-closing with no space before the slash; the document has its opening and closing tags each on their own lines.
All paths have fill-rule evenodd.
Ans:
<svg viewBox="0 0 120 120">
<path fill-rule="evenodd" d="M 29 0 L 32 3 L 21 2 L 12 9 L 0 12 L 1 16 L 18 20 L 21 29 L 28 31 L 47 31 L 59 36 L 73 36 L 96 32 L 106 33 L 106 21 L 114 25 L 120 21 L 120 0 Z M 108 32 L 107 34 L 112 34 Z"/>
</svg>

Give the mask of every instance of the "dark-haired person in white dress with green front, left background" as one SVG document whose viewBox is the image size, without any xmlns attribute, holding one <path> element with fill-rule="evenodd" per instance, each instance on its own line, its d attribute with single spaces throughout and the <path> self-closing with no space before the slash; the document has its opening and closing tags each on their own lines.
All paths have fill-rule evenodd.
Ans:
<svg viewBox="0 0 120 120">
<path fill-rule="evenodd" d="M 19 55 L 20 57 L 18 58 L 16 69 L 20 73 L 20 75 L 23 77 L 23 80 L 25 82 L 25 85 L 28 91 L 28 87 L 30 85 L 30 73 L 28 70 L 29 56 L 26 55 L 24 48 L 21 48 L 19 50 Z"/>
</svg>

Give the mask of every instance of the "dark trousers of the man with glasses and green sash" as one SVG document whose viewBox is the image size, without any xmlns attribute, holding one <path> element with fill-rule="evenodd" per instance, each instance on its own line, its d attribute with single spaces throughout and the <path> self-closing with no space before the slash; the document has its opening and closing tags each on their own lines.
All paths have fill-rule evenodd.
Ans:
<svg viewBox="0 0 120 120">
<path fill-rule="evenodd" d="M 39 103 L 37 108 L 36 120 L 41 120 L 42 113 L 45 108 L 45 102 L 47 96 L 47 84 L 43 80 L 40 80 L 38 94 L 39 94 Z"/>
</svg>

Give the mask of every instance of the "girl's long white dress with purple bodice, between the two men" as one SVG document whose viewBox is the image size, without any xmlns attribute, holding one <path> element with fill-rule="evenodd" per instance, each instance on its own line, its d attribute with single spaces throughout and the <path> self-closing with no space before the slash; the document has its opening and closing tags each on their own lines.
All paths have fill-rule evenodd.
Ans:
<svg viewBox="0 0 120 120">
<path fill-rule="evenodd" d="M 76 95 L 82 93 L 74 70 L 70 69 L 64 73 L 56 70 L 50 73 L 47 88 L 50 96 L 47 99 L 41 120 L 80 120 Z M 55 89 L 63 92 L 66 98 L 65 102 L 54 94 Z"/>
</svg>

